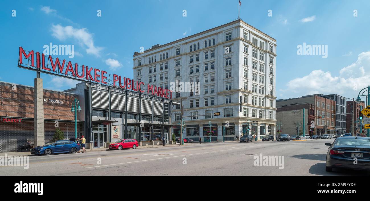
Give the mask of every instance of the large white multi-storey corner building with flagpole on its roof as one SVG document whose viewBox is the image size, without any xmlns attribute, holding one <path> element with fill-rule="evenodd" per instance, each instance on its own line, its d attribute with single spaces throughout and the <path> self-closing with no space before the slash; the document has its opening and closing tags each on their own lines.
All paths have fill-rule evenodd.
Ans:
<svg viewBox="0 0 370 201">
<path fill-rule="evenodd" d="M 134 78 L 169 89 L 176 81 L 198 83 L 199 91 L 172 93 L 173 101 L 182 101 L 184 116 L 209 115 L 185 117 L 184 137 L 206 141 L 211 133 L 211 140 L 220 141 L 225 126 L 225 140 L 233 140 L 247 132 L 248 122 L 249 134 L 261 139 L 276 131 L 276 56 L 274 38 L 236 20 L 135 52 Z M 181 106 L 174 106 L 172 125 L 180 113 Z M 179 136 L 179 127 L 173 129 Z"/>
</svg>

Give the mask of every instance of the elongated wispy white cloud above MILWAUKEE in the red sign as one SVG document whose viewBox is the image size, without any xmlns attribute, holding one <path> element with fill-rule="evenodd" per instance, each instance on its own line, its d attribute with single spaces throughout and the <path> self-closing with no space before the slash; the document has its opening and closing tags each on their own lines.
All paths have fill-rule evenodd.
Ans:
<svg viewBox="0 0 370 201">
<path fill-rule="evenodd" d="M 87 31 L 87 28 L 73 28 L 72 26 L 62 25 L 51 25 L 51 31 L 55 38 L 58 38 L 61 41 L 64 41 L 68 38 L 73 38 L 84 48 L 86 48 L 87 54 L 95 55 L 100 57 L 100 51 L 102 47 L 95 47 L 94 40 L 92 40 L 92 34 Z"/>
</svg>

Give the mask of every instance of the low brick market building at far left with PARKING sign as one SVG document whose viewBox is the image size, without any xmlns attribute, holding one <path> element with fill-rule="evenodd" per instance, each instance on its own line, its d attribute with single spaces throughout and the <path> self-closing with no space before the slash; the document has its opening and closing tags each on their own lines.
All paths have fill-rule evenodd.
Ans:
<svg viewBox="0 0 370 201">
<path fill-rule="evenodd" d="M 44 89 L 45 143 L 53 139 L 55 121 L 64 138 L 75 136 L 71 101 L 77 95 Z M 14 121 L 14 119 L 18 119 Z M 0 82 L 0 152 L 19 151 L 27 140 L 34 144 L 34 88 Z M 77 120 L 79 122 L 80 119 Z M 13 121 L 13 122 L 12 122 Z"/>
</svg>

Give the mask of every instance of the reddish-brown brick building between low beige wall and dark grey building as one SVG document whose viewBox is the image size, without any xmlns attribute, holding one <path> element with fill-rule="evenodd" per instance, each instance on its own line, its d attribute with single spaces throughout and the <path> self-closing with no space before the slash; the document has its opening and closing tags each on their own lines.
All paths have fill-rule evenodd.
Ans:
<svg viewBox="0 0 370 201">
<path fill-rule="evenodd" d="M 315 120 L 313 134 L 335 134 L 335 106 L 336 102 L 332 99 L 321 97 L 323 94 L 314 94 L 302 96 L 299 98 L 279 99 L 276 100 L 276 108 L 281 108 L 289 105 L 310 103 L 315 106 Z M 318 119 L 317 116 L 325 116 L 323 119 Z"/>
</svg>

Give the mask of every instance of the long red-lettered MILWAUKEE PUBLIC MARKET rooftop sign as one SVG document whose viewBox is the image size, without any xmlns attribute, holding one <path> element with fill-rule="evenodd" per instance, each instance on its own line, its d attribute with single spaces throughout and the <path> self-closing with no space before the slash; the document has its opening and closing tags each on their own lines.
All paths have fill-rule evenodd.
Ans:
<svg viewBox="0 0 370 201">
<path fill-rule="evenodd" d="M 28 54 L 26 53 L 28 52 Z M 26 61 L 25 61 L 26 60 Z M 165 99 L 172 99 L 172 91 L 161 87 L 148 84 L 145 88 L 144 82 L 135 81 L 134 79 L 121 77 L 116 74 L 108 74 L 98 68 L 90 68 L 85 65 L 72 64 L 71 61 L 60 61 L 52 58 L 51 55 L 46 57 L 40 52 L 36 52 L 36 63 L 34 51 L 25 51 L 19 47 L 18 67 L 31 69 L 34 71 L 53 74 L 83 82 L 101 84 L 105 86 L 121 88 L 124 90 L 147 93 L 148 95 L 158 96 Z"/>
</svg>

